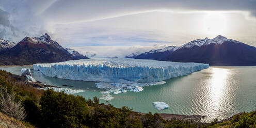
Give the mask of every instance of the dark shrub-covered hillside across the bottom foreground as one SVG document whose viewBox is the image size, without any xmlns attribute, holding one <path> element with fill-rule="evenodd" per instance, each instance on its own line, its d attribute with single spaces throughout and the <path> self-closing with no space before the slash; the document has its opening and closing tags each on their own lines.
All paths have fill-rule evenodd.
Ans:
<svg viewBox="0 0 256 128">
<path fill-rule="evenodd" d="M 86 100 L 51 89 L 39 90 L 13 76 L 0 70 L 0 127 L 256 127 L 256 111 L 212 123 L 164 120 L 159 114 L 100 104 L 96 97 Z M 14 107 L 5 106 L 9 94 L 15 94 L 7 100 Z M 19 103 L 21 106 L 17 107 Z"/>
</svg>

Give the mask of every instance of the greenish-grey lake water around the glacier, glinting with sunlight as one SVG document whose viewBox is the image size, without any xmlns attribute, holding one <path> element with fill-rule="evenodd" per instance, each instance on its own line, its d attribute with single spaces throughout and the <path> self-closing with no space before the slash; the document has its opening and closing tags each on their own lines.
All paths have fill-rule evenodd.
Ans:
<svg viewBox="0 0 256 128">
<path fill-rule="evenodd" d="M 0 68 L 13 74 L 20 74 L 22 67 Z M 95 82 L 72 81 L 52 78 L 34 72 L 33 77 L 42 83 L 54 86 L 72 85 L 86 90 L 77 93 L 86 99 L 102 97 L 103 89 Z M 256 66 L 252 67 L 210 67 L 192 74 L 171 78 L 166 84 L 143 87 L 141 92 L 126 92 L 109 101 L 115 107 L 128 106 L 135 111 L 148 113 L 170 113 L 183 115 L 204 115 L 205 122 L 228 118 L 239 112 L 256 110 Z M 75 94 L 76 95 L 76 94 Z M 152 102 L 162 101 L 170 107 L 156 110 Z M 106 103 L 104 100 L 100 100 Z"/>
</svg>

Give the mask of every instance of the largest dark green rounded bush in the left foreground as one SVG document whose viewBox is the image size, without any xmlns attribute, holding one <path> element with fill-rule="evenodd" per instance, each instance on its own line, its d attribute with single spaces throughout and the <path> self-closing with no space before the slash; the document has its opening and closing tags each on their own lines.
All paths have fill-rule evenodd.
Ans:
<svg viewBox="0 0 256 128">
<path fill-rule="evenodd" d="M 88 117 L 86 100 L 47 89 L 40 99 L 42 127 L 82 127 Z"/>
</svg>

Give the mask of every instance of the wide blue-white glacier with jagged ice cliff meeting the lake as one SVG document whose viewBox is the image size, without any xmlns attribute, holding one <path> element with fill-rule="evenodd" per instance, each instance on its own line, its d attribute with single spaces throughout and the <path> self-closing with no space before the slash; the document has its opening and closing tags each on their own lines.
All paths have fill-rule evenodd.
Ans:
<svg viewBox="0 0 256 128">
<path fill-rule="evenodd" d="M 161 82 L 208 67 L 204 63 L 127 58 L 93 58 L 34 64 L 34 70 L 50 77 L 115 83 Z"/>
</svg>

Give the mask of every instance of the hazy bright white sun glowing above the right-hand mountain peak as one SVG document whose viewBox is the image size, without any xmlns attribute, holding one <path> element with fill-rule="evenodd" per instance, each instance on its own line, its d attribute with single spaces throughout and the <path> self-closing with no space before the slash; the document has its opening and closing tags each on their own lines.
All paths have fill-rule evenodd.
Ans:
<svg viewBox="0 0 256 128">
<path fill-rule="evenodd" d="M 228 18 L 227 15 L 222 12 L 207 12 L 203 24 L 207 35 L 225 35 L 228 29 Z"/>
</svg>

